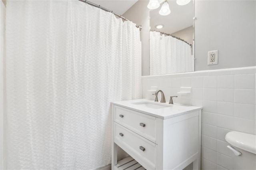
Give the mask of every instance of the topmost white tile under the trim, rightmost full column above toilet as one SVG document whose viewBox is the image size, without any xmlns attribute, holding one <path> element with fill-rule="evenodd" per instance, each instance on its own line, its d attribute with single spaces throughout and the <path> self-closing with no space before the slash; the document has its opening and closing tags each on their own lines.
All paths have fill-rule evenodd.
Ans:
<svg viewBox="0 0 256 170">
<path fill-rule="evenodd" d="M 254 89 L 254 74 L 235 75 L 235 89 Z"/>
</svg>

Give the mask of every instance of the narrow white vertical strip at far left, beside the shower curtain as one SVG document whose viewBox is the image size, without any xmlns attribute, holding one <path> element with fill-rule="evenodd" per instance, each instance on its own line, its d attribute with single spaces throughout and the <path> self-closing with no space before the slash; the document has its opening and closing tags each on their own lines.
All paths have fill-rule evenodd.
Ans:
<svg viewBox="0 0 256 170">
<path fill-rule="evenodd" d="M 0 1 L 0 169 L 4 169 L 3 115 L 4 115 L 4 23 L 5 6 Z"/>
</svg>

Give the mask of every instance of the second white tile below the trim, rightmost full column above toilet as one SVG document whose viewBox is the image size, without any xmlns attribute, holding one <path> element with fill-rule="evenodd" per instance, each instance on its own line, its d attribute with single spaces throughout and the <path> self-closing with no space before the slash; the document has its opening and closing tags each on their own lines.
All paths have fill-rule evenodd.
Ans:
<svg viewBox="0 0 256 170">
<path fill-rule="evenodd" d="M 244 104 L 254 104 L 254 90 L 252 89 L 235 89 L 234 102 Z"/>
</svg>

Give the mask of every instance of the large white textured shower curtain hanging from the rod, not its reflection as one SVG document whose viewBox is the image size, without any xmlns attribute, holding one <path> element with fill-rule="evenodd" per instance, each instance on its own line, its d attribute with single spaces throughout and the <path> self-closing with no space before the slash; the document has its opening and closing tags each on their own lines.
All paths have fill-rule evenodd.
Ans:
<svg viewBox="0 0 256 170">
<path fill-rule="evenodd" d="M 110 101 L 141 98 L 139 34 L 78 0 L 7 1 L 7 169 L 110 164 Z"/>
</svg>

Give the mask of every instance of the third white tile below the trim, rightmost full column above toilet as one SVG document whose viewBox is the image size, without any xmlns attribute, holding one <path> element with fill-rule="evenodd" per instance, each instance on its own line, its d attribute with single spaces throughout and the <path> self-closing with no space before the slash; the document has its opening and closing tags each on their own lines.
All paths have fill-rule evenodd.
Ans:
<svg viewBox="0 0 256 170">
<path fill-rule="evenodd" d="M 234 116 L 245 119 L 254 119 L 254 107 L 255 105 L 234 103 Z"/>
</svg>

